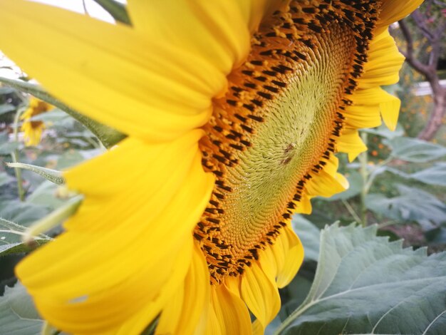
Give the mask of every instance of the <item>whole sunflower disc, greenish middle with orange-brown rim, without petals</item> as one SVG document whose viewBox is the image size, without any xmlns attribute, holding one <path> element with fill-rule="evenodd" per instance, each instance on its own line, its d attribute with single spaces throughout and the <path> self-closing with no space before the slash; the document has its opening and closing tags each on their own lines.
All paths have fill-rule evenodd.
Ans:
<svg viewBox="0 0 446 335">
<path fill-rule="evenodd" d="M 276 11 L 228 77 L 226 96 L 214 100 L 200 149 L 217 181 L 194 232 L 214 284 L 274 244 L 306 180 L 333 152 L 377 14 L 369 2 L 292 1 Z"/>
</svg>

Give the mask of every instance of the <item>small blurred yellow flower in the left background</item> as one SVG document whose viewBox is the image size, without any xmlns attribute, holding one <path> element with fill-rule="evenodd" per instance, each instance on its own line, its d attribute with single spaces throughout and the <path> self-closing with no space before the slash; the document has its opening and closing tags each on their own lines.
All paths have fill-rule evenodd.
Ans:
<svg viewBox="0 0 446 335">
<path fill-rule="evenodd" d="M 21 125 L 21 131 L 24 132 L 25 145 L 38 145 L 43 129 L 45 129 L 45 123 L 40 120 L 32 120 L 32 118 L 51 109 L 53 109 L 53 106 L 49 103 L 34 98 L 33 96 L 29 98 L 28 108 L 20 117 L 24 121 Z"/>
</svg>

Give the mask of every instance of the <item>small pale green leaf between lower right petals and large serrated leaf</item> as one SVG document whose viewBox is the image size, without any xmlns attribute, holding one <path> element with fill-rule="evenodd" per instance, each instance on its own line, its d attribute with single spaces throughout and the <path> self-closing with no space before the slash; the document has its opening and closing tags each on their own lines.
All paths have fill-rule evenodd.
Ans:
<svg viewBox="0 0 446 335">
<path fill-rule="evenodd" d="M 319 241 L 321 231 L 313 225 L 310 221 L 306 220 L 301 215 L 294 215 L 293 230 L 301 239 L 305 250 L 305 259 L 318 261 L 319 257 Z"/>
</svg>

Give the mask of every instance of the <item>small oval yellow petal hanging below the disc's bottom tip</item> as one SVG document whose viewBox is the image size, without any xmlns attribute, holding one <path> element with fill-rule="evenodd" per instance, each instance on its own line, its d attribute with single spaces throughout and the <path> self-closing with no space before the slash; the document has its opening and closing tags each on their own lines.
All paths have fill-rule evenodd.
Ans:
<svg viewBox="0 0 446 335">
<path fill-rule="evenodd" d="M 242 298 L 264 328 L 280 309 L 279 291 L 273 280 L 257 262 L 253 262 L 242 277 Z"/>
</svg>

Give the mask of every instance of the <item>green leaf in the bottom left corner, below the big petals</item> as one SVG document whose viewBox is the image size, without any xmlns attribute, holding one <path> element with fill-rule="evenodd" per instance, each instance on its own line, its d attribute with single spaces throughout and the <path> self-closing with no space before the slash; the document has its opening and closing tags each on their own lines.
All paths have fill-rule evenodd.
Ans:
<svg viewBox="0 0 446 335">
<path fill-rule="evenodd" d="M 43 320 L 22 284 L 12 289 L 6 287 L 4 296 L 0 297 L 0 324 L 1 334 L 41 334 Z"/>
</svg>

